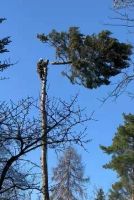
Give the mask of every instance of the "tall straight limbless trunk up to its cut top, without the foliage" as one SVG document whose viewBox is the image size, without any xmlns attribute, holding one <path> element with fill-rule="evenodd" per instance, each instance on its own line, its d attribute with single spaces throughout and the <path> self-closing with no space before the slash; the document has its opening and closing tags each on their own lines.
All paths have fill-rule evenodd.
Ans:
<svg viewBox="0 0 134 200">
<path fill-rule="evenodd" d="M 42 200 L 49 200 L 49 188 L 48 188 L 48 163 L 47 163 L 47 112 L 46 112 L 46 85 L 47 85 L 47 69 L 48 60 L 41 60 L 38 62 L 37 70 L 41 79 L 41 126 L 42 126 L 42 152 L 41 152 L 41 167 L 42 167 Z"/>
</svg>

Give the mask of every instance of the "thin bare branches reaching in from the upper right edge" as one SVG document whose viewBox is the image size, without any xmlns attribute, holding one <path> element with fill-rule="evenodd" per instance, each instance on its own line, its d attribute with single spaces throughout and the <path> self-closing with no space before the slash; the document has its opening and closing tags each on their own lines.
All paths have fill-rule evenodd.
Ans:
<svg viewBox="0 0 134 200">
<path fill-rule="evenodd" d="M 127 41 L 133 46 L 133 37 L 131 35 L 134 33 L 134 1 L 133 0 L 113 0 L 113 12 L 114 15 L 110 17 L 112 21 L 107 23 L 108 26 L 116 26 L 117 28 L 125 28 L 127 32 Z M 128 34 L 130 37 L 128 37 Z M 116 99 L 123 93 L 127 93 L 128 96 L 134 98 L 133 93 L 133 81 L 134 81 L 134 61 L 133 56 L 131 57 L 131 68 L 129 70 L 124 70 L 121 77 L 113 87 L 112 91 L 102 100 L 105 102 L 109 97 Z M 131 86 L 131 90 L 129 89 Z"/>
</svg>

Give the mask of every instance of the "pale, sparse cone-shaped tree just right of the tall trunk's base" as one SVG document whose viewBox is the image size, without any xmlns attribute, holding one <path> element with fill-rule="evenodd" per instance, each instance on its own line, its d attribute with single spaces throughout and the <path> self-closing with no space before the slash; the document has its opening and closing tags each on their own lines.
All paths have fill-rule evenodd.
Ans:
<svg viewBox="0 0 134 200">
<path fill-rule="evenodd" d="M 53 169 L 52 180 L 55 185 L 52 189 L 52 200 L 78 200 L 86 196 L 84 183 L 84 166 L 81 156 L 73 147 L 68 147 Z"/>
</svg>

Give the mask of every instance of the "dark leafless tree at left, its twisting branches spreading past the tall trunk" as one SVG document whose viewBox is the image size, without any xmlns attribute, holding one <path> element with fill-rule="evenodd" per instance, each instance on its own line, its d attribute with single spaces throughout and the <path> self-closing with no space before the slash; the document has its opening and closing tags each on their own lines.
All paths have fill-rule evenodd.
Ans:
<svg viewBox="0 0 134 200">
<path fill-rule="evenodd" d="M 82 111 L 75 107 L 75 103 L 76 97 L 70 103 L 47 100 L 47 147 L 60 150 L 67 142 L 80 145 L 87 142 L 84 130 L 75 133 L 75 126 L 88 120 L 82 117 Z M 8 199 L 22 199 L 23 191 L 28 190 L 41 192 L 40 179 L 36 179 L 40 178 L 40 174 L 32 171 L 38 167 L 40 172 L 40 168 L 24 157 L 43 146 L 41 121 L 31 118 L 32 106 L 37 109 L 34 112 L 39 112 L 37 102 L 31 98 L 17 104 L 11 102 L 10 106 L 0 104 L 0 196 L 3 199 L 6 196 Z"/>
</svg>

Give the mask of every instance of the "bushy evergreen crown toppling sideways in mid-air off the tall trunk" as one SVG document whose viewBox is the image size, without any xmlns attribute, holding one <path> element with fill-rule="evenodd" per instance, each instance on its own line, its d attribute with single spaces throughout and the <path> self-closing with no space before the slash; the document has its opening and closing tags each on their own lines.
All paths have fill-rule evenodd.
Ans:
<svg viewBox="0 0 134 200">
<path fill-rule="evenodd" d="M 63 74 L 73 84 L 91 89 L 109 85 L 112 76 L 129 67 L 132 46 L 111 37 L 107 30 L 84 35 L 78 27 L 71 27 L 68 32 L 52 30 L 48 35 L 37 37 L 55 48 L 58 61 L 68 61 L 71 68 Z"/>
</svg>

